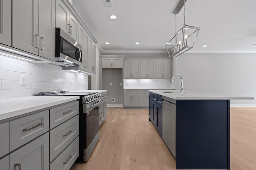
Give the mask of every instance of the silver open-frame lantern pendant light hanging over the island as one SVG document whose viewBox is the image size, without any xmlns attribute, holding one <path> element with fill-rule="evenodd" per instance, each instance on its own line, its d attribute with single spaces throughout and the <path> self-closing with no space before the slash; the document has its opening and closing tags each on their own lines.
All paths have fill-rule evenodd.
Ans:
<svg viewBox="0 0 256 170">
<path fill-rule="evenodd" d="M 182 6 L 180 5 L 180 3 L 183 3 L 182 1 L 184 1 L 184 25 L 177 32 L 176 14 L 178 14 L 180 9 L 182 8 Z M 168 43 L 166 43 L 166 49 L 168 51 L 169 57 L 177 57 L 182 53 L 188 51 L 189 49 L 192 49 L 200 30 L 200 27 L 185 24 L 185 2 L 186 0 L 180 0 L 179 4 L 177 5 L 173 12 L 173 14 L 175 14 L 175 35 Z"/>
</svg>

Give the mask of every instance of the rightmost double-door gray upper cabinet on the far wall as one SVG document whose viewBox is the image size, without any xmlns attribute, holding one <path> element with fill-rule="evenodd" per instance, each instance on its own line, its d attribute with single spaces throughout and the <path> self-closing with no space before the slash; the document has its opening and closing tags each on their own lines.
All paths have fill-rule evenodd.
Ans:
<svg viewBox="0 0 256 170">
<path fill-rule="evenodd" d="M 172 60 L 156 59 L 155 70 L 156 78 L 172 78 Z"/>
</svg>

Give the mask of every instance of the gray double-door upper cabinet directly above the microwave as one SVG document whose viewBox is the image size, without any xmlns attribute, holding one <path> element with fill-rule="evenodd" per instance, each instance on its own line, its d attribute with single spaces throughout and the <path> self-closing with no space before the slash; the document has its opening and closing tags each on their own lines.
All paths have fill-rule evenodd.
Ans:
<svg viewBox="0 0 256 170">
<path fill-rule="evenodd" d="M 78 41 L 79 23 L 62 0 L 56 0 L 56 27 L 60 27 Z"/>
</svg>

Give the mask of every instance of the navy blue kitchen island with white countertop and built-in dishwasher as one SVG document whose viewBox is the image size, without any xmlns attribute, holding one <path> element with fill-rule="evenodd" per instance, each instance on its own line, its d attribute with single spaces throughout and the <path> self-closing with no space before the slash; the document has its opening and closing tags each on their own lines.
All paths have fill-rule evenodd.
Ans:
<svg viewBox="0 0 256 170">
<path fill-rule="evenodd" d="M 176 169 L 230 169 L 230 100 L 253 97 L 149 90 L 149 120 Z"/>
</svg>

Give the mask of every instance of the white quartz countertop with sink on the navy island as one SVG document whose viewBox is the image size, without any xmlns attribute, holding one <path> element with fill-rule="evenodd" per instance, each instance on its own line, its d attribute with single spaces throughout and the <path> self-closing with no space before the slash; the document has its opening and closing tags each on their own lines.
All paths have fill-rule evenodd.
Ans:
<svg viewBox="0 0 256 170">
<path fill-rule="evenodd" d="M 214 94 L 204 92 L 184 91 L 181 93 L 178 90 L 149 90 L 152 93 L 165 96 L 174 100 L 253 100 L 254 97 L 247 96 L 232 96 L 225 94 Z"/>
</svg>

